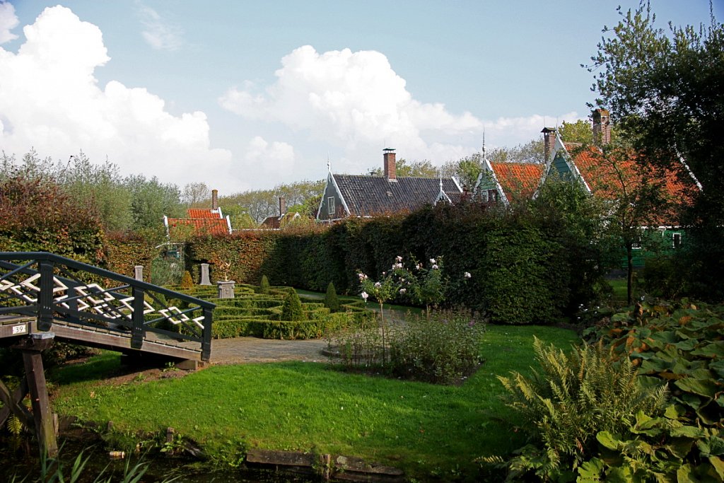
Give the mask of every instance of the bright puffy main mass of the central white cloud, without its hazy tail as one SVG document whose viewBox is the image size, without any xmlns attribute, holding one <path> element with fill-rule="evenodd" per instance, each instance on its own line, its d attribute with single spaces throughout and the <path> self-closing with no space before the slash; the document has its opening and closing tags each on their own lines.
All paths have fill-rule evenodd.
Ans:
<svg viewBox="0 0 724 483">
<path fill-rule="evenodd" d="M 276 75 L 263 93 L 246 83 L 230 88 L 219 103 L 243 117 L 282 122 L 348 149 L 385 141 L 423 148 L 427 131 L 455 137 L 482 130 L 469 112 L 451 114 L 444 104 L 413 99 L 405 80 L 376 51 L 319 54 L 302 46 L 282 58 Z"/>
</svg>

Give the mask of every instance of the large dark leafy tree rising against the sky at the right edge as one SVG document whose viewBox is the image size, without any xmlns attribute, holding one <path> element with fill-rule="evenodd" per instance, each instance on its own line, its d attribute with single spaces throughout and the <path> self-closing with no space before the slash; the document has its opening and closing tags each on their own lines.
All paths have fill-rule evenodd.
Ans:
<svg viewBox="0 0 724 483">
<path fill-rule="evenodd" d="M 595 72 L 597 104 L 607 107 L 641 162 L 685 162 L 701 182 L 685 222 L 696 227 L 698 249 L 688 264 L 704 280 L 700 295 L 720 297 L 724 274 L 724 25 L 658 28 L 648 2 L 621 12 L 604 28 Z M 695 290 L 696 291 L 696 290 Z"/>
</svg>

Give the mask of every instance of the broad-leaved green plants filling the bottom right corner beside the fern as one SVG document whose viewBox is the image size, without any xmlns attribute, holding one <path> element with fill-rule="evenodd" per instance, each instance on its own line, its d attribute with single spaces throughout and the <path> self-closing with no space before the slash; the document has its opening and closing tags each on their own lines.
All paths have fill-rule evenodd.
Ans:
<svg viewBox="0 0 724 483">
<path fill-rule="evenodd" d="M 601 454 L 581 476 L 628 471 L 639 481 L 721 481 L 724 477 L 724 307 L 642 303 L 589 329 L 639 367 L 645 385 L 669 382 L 664 414 L 639 413 L 625 430 L 599 433 Z M 599 476 L 596 476 L 599 475 Z"/>
</svg>

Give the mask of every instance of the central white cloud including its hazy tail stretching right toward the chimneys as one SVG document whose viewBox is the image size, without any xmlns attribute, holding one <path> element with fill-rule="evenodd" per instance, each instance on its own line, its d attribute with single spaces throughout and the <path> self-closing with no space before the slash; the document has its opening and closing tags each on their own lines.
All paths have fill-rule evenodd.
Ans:
<svg viewBox="0 0 724 483">
<path fill-rule="evenodd" d="M 282 58 L 275 75 L 271 85 L 245 81 L 230 88 L 219 104 L 246 119 L 281 123 L 341 148 L 332 160 L 336 172 L 360 173 L 381 165 L 384 147 L 397 148 L 400 158 L 441 165 L 479 151 L 484 129 L 488 146 L 515 146 L 538 137 L 544 120 L 556 120 L 541 115 L 484 120 L 418 101 L 376 51 L 319 53 L 302 46 Z M 563 114 L 563 119 L 575 120 L 577 114 Z M 297 159 L 296 171 L 318 172 L 319 164 Z"/>
</svg>

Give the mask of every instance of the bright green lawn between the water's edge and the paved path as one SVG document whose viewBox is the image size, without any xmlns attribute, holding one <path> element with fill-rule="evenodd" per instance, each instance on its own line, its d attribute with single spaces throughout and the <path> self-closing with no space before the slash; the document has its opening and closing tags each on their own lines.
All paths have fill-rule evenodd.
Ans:
<svg viewBox="0 0 724 483">
<path fill-rule="evenodd" d="M 54 410 L 121 433 L 174 427 L 212 458 L 230 447 L 353 455 L 408 475 L 451 479 L 477 474 L 473 459 L 523 443 L 505 421 L 497 375 L 529 371 L 533 337 L 567 348 L 574 332 L 555 327 L 490 326 L 481 369 L 460 387 L 350 374 L 328 364 L 213 366 L 182 379 L 104 384 L 112 353 L 54 377 Z M 71 382 L 73 381 L 73 382 Z"/>
</svg>

